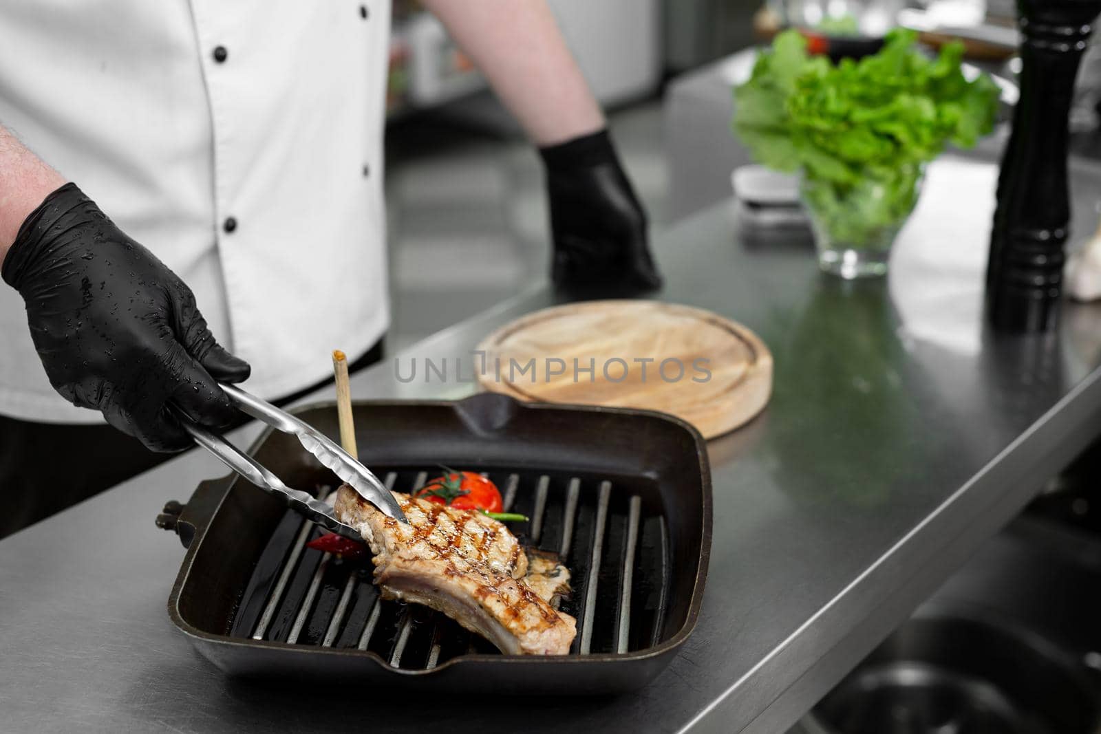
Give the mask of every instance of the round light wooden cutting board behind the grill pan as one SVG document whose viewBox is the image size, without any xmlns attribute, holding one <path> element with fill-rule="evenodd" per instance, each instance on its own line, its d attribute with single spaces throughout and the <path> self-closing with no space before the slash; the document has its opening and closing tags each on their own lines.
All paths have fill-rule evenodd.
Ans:
<svg viewBox="0 0 1101 734">
<path fill-rule="evenodd" d="M 501 327 L 478 349 L 484 365 L 476 372 L 486 390 L 524 401 L 662 410 L 705 438 L 746 423 L 772 393 L 772 354 L 755 333 L 676 304 L 546 308 Z"/>
</svg>

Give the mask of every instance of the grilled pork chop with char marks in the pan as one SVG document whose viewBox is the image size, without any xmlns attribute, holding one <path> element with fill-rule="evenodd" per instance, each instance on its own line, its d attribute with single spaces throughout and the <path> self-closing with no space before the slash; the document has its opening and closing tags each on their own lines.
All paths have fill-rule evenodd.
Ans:
<svg viewBox="0 0 1101 734">
<path fill-rule="evenodd" d="M 478 512 L 393 494 L 408 525 L 382 514 L 347 485 L 334 504 L 337 517 L 371 547 L 383 598 L 443 612 L 509 655 L 569 651 L 577 622 L 547 603 L 565 581 L 558 579 L 565 569 L 547 593 L 543 577 L 550 570 L 541 565 L 544 599 L 524 581 L 527 555 L 504 525 Z"/>
</svg>

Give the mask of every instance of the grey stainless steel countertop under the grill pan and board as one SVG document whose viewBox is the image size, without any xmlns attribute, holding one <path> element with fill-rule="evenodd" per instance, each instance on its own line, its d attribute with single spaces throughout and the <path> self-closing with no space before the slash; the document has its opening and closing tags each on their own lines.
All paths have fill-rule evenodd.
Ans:
<svg viewBox="0 0 1101 734">
<path fill-rule="evenodd" d="M 1098 180 L 1076 166 L 1077 232 L 1095 224 Z M 183 550 L 153 517 L 224 473 L 193 451 L 0 541 L 0 730 L 785 731 L 1101 432 L 1101 307 L 1068 304 L 1049 337 L 995 338 L 966 307 L 981 270 L 938 266 L 924 247 L 897 253 L 890 282 L 842 284 L 805 247 L 739 239 L 726 206 L 656 238 L 657 297 L 754 329 L 776 380 L 761 417 L 709 445 L 702 614 L 651 687 L 437 701 L 227 680 L 165 611 Z M 914 294 L 940 307 L 912 311 Z M 465 357 L 554 302 L 538 287 L 402 359 Z M 471 392 L 401 384 L 393 360 L 352 384 L 358 398 Z"/>
</svg>

